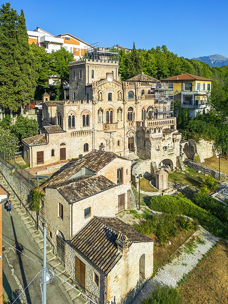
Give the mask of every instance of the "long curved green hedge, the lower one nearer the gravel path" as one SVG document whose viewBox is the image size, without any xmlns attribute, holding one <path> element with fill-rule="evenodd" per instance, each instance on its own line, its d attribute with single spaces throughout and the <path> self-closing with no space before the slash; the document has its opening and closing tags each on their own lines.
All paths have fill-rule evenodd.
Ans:
<svg viewBox="0 0 228 304">
<path fill-rule="evenodd" d="M 209 211 L 196 206 L 190 199 L 171 195 L 154 196 L 149 202 L 149 207 L 158 212 L 189 216 L 215 236 L 228 237 L 228 227 Z"/>
</svg>

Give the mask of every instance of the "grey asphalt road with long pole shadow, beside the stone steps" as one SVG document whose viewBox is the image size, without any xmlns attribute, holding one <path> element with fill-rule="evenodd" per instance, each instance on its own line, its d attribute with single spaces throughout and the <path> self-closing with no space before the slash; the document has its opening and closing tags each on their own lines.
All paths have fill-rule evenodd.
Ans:
<svg viewBox="0 0 228 304">
<path fill-rule="evenodd" d="M 19 219 L 19 216 L 12 208 L 12 215 L 6 212 L 4 205 L 2 206 L 2 238 L 14 247 L 21 247 L 22 252 L 34 260 L 42 263 L 43 258 L 41 252 L 35 247 L 34 241 L 25 226 Z M 23 254 L 20 254 L 4 241 L 3 247 L 3 270 L 6 278 L 15 292 L 19 295 L 22 290 L 32 281 L 35 275 L 41 270 L 42 266 L 28 259 Z M 34 279 L 20 296 L 18 303 L 40 304 L 42 303 L 42 296 L 40 290 L 41 273 Z M 47 304 L 69 303 L 65 294 L 61 291 L 58 278 L 47 285 Z"/>
</svg>

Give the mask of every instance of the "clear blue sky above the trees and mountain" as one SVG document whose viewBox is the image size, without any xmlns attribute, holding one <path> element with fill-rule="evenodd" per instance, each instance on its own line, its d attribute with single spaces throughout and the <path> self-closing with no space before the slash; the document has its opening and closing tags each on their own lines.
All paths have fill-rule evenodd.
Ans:
<svg viewBox="0 0 228 304">
<path fill-rule="evenodd" d="M 3 3 L 3 2 L 2 2 Z M 88 42 L 151 49 L 165 44 L 187 58 L 228 57 L 227 0 L 78 1 L 11 0 L 24 10 L 29 30 L 37 26 L 54 35 L 71 33 Z"/>
</svg>

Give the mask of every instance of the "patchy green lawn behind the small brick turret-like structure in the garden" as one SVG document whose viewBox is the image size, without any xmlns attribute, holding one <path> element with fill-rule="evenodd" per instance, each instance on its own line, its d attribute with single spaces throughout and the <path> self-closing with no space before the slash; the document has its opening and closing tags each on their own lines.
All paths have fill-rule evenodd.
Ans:
<svg viewBox="0 0 228 304">
<path fill-rule="evenodd" d="M 168 181 L 174 184 L 189 185 L 190 188 L 198 189 L 202 184 L 205 184 L 205 176 L 202 173 L 198 173 L 189 167 L 186 167 L 186 171 L 184 171 L 184 173 L 181 171 L 170 172 Z"/>
</svg>

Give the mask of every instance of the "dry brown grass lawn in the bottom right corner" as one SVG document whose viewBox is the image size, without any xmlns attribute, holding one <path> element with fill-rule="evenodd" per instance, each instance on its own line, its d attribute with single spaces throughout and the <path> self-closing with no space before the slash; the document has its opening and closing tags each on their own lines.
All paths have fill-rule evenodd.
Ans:
<svg viewBox="0 0 228 304">
<path fill-rule="evenodd" d="M 228 303 L 228 246 L 219 241 L 182 280 L 182 304 Z"/>
</svg>

